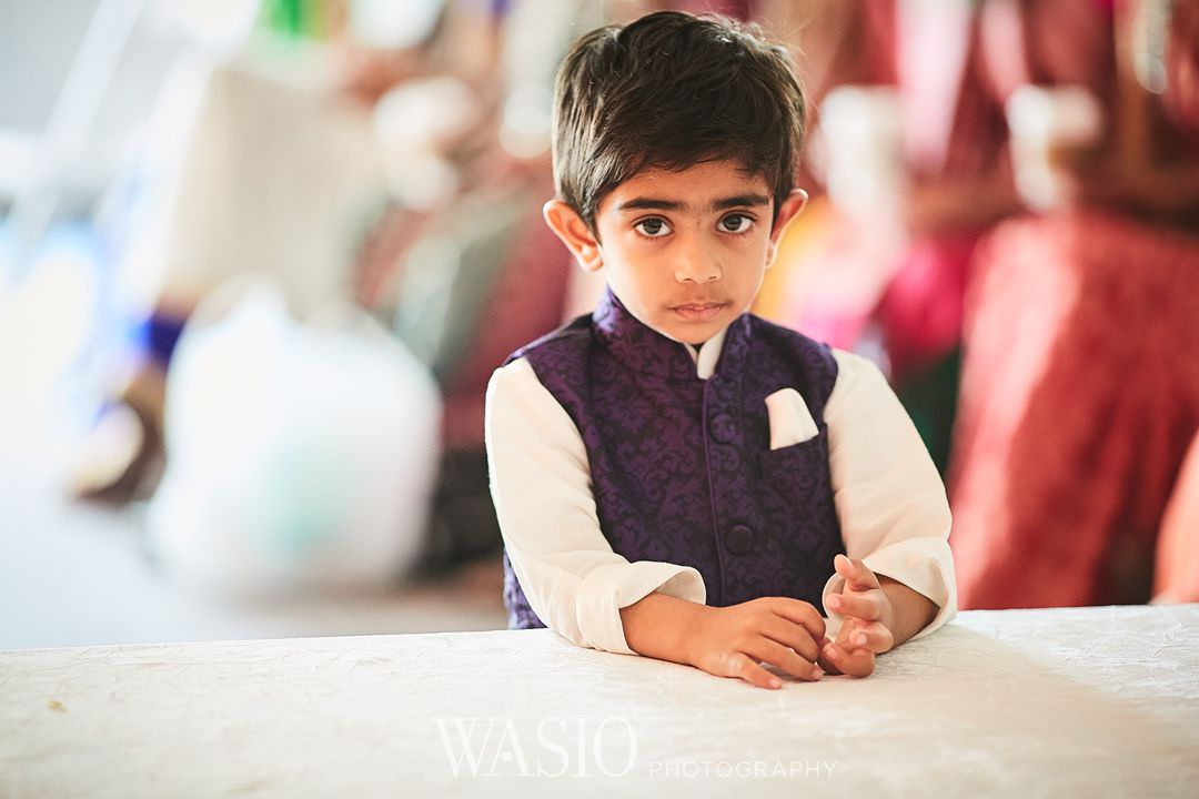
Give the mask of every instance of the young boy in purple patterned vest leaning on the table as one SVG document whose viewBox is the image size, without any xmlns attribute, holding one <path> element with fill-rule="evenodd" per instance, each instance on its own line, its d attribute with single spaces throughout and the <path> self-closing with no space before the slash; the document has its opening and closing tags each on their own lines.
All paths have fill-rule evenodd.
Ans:
<svg viewBox="0 0 1199 799">
<path fill-rule="evenodd" d="M 950 512 L 878 369 L 747 313 L 807 199 L 785 50 L 662 12 L 584 36 L 555 93 L 546 220 L 608 291 L 488 389 L 511 627 L 763 688 L 872 673 L 956 611 Z"/>
</svg>

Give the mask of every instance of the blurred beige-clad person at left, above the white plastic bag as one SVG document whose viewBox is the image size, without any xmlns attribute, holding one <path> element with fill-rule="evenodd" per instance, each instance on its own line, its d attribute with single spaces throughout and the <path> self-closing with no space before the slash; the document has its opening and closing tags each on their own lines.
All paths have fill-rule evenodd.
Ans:
<svg viewBox="0 0 1199 799">
<path fill-rule="evenodd" d="M 385 192 L 368 109 L 341 96 L 321 44 L 347 25 L 341 4 L 230 4 L 218 42 L 221 13 L 162 5 L 189 47 L 101 212 L 127 346 L 71 474 L 78 496 L 118 504 L 156 483 L 167 367 L 194 308 L 246 273 L 278 280 L 300 316 L 349 296 L 356 237 Z"/>
</svg>

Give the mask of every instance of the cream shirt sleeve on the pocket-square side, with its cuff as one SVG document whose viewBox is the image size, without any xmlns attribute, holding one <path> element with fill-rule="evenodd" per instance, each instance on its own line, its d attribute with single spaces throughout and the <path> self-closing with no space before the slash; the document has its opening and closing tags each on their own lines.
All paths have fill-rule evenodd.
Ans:
<svg viewBox="0 0 1199 799">
<path fill-rule="evenodd" d="M 938 606 L 915 637 L 936 630 L 957 613 L 950 503 L 916 426 L 878 368 L 861 356 L 835 350 L 838 376 L 829 402 L 829 466 L 845 553 L 875 574 L 904 583 Z M 827 610 L 844 579 L 833 575 L 823 601 Z"/>
</svg>

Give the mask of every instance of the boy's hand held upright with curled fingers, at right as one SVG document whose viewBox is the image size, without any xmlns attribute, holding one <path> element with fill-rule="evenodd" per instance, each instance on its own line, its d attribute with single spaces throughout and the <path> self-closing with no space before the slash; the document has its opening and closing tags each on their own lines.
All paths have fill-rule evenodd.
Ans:
<svg viewBox="0 0 1199 799">
<path fill-rule="evenodd" d="M 874 655 L 894 646 L 891 600 L 879 577 L 861 561 L 838 555 L 833 568 L 845 579 L 845 586 L 826 603 L 829 610 L 844 617 L 844 623 L 836 642 L 824 640 L 819 662 L 832 674 L 869 677 L 874 673 Z"/>
</svg>

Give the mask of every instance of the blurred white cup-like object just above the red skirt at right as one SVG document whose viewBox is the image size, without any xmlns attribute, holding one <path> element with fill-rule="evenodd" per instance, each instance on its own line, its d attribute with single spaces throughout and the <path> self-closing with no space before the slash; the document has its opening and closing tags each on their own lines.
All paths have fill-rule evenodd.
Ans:
<svg viewBox="0 0 1199 799">
<path fill-rule="evenodd" d="M 1062 161 L 1103 134 L 1099 101 L 1081 86 L 1022 86 L 1006 111 L 1016 188 L 1030 208 L 1050 208 L 1062 199 Z"/>
</svg>

